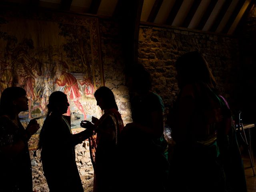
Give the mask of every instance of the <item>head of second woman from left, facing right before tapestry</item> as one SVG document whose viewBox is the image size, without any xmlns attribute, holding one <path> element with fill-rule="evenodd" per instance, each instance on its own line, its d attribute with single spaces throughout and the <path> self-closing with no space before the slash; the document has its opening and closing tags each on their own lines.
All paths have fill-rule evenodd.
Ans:
<svg viewBox="0 0 256 192">
<path fill-rule="evenodd" d="M 69 103 L 66 94 L 61 91 L 52 92 L 47 105 L 48 114 L 53 112 L 54 114 L 62 115 L 68 111 L 68 106 Z"/>
</svg>

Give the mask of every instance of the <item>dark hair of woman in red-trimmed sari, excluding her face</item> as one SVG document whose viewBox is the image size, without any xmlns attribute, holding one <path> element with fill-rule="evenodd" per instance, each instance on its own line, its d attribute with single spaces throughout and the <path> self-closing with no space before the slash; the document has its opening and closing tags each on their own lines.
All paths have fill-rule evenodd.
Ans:
<svg viewBox="0 0 256 192">
<path fill-rule="evenodd" d="M 98 88 L 94 93 L 94 97 L 96 96 L 102 98 L 102 101 L 104 102 L 104 105 L 107 109 L 114 108 L 118 110 L 114 93 L 112 92 L 112 90 L 110 90 L 110 88 L 106 86 Z"/>
</svg>

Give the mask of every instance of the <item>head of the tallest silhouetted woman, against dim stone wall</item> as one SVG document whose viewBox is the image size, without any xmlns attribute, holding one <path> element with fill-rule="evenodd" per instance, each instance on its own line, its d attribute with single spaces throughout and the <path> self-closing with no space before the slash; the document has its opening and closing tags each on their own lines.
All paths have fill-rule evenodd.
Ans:
<svg viewBox="0 0 256 192">
<path fill-rule="evenodd" d="M 216 82 L 208 63 L 198 51 L 187 52 L 176 60 L 179 88 L 191 83 L 204 83 L 215 88 Z"/>
</svg>

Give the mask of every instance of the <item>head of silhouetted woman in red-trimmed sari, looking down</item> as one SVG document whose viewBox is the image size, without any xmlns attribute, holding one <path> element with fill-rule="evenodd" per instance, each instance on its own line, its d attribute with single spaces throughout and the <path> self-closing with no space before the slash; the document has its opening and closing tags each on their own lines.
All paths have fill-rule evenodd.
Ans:
<svg viewBox="0 0 256 192">
<path fill-rule="evenodd" d="M 110 88 L 105 87 L 105 86 L 98 88 L 94 93 L 94 97 L 97 101 L 97 105 L 102 110 L 111 109 L 111 108 L 118 110 L 118 106 L 116 105 L 115 96 L 114 96 L 112 90 L 110 90 Z"/>
</svg>

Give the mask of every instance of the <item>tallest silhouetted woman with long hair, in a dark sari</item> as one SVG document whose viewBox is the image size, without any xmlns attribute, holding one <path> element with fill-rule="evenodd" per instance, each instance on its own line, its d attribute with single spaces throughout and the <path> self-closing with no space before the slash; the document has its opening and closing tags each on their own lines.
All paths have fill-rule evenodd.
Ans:
<svg viewBox="0 0 256 192">
<path fill-rule="evenodd" d="M 222 110 L 216 82 L 202 54 L 180 56 L 176 70 L 180 92 L 168 119 L 176 142 L 169 191 L 222 192 L 225 180 L 217 133 L 223 134 L 230 113 Z"/>
</svg>

